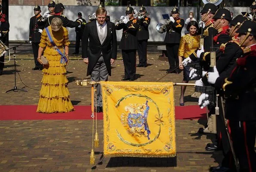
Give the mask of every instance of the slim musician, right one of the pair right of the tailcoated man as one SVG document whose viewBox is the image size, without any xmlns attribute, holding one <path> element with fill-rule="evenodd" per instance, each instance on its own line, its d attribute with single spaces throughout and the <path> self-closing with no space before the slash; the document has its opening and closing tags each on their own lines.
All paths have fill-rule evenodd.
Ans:
<svg viewBox="0 0 256 172">
<path fill-rule="evenodd" d="M 148 26 L 150 24 L 150 18 L 148 16 L 144 16 L 147 10 L 144 6 L 139 9 L 139 12 L 143 14 L 142 18 L 139 18 L 140 24 L 139 29 L 137 31 L 138 38 L 138 55 L 139 55 L 139 64 L 137 67 L 147 67 L 147 46 L 148 46 Z"/>
</svg>

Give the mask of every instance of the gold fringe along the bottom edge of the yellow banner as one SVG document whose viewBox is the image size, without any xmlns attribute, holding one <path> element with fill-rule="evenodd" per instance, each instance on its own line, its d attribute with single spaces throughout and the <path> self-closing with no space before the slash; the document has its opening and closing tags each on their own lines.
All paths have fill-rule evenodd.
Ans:
<svg viewBox="0 0 256 172">
<path fill-rule="evenodd" d="M 172 158 L 176 157 L 175 154 L 166 154 L 166 155 L 146 155 L 146 154 L 105 154 L 104 157 L 140 157 L 140 158 Z"/>
</svg>

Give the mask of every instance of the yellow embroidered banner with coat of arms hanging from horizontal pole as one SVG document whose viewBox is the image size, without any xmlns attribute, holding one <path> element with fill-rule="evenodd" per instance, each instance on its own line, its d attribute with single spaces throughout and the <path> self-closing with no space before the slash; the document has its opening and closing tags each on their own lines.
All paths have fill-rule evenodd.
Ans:
<svg viewBox="0 0 256 172">
<path fill-rule="evenodd" d="M 176 156 L 173 83 L 100 83 L 105 156 Z"/>
</svg>

